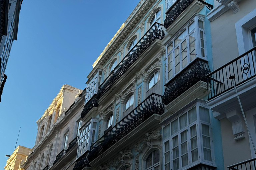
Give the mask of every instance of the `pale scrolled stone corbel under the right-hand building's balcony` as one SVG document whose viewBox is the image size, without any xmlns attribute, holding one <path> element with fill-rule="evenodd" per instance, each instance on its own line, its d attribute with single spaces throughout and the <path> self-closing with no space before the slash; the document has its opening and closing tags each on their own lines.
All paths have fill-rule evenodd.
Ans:
<svg viewBox="0 0 256 170">
<path fill-rule="evenodd" d="M 245 138 L 244 136 L 244 123 L 243 118 L 240 112 L 237 110 L 232 110 L 228 112 L 227 119 L 232 123 L 233 135 L 235 136 L 234 140 L 240 140 Z"/>
</svg>

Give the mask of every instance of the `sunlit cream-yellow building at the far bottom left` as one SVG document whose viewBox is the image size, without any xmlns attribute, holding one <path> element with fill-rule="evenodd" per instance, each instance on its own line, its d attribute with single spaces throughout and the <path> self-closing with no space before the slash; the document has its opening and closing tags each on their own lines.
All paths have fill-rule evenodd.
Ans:
<svg viewBox="0 0 256 170">
<path fill-rule="evenodd" d="M 32 149 L 18 146 L 12 155 L 6 161 L 6 165 L 4 167 L 5 170 L 18 170 L 20 168 L 20 164 L 22 164 L 30 155 Z"/>
</svg>

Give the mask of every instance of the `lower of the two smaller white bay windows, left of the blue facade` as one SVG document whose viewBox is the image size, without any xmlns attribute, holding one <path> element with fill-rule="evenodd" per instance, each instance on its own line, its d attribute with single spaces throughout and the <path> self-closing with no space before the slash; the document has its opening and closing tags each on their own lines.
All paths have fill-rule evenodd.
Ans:
<svg viewBox="0 0 256 170">
<path fill-rule="evenodd" d="M 90 149 L 90 146 L 96 141 L 97 121 L 97 119 L 91 119 L 87 124 L 83 125 L 79 134 L 77 158 Z"/>
</svg>

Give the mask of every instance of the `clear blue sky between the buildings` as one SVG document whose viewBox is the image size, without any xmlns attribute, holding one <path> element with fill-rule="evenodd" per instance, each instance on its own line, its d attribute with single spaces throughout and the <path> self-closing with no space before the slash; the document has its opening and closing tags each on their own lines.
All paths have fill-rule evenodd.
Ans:
<svg viewBox="0 0 256 170">
<path fill-rule="evenodd" d="M 24 0 L 0 103 L 0 169 L 17 145 L 32 148 L 36 121 L 63 84 L 84 89 L 92 64 L 139 0 Z"/>
</svg>

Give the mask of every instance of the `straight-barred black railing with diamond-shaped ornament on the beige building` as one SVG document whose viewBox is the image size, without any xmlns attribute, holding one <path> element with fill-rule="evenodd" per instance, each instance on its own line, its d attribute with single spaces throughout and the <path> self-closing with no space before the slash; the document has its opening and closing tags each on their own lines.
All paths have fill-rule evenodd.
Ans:
<svg viewBox="0 0 256 170">
<path fill-rule="evenodd" d="M 207 83 L 210 84 L 211 92 L 208 100 L 232 89 L 234 85 L 230 76 L 235 76 L 236 86 L 256 76 L 255 55 L 256 46 L 243 53 L 222 67 L 206 75 Z"/>
</svg>

